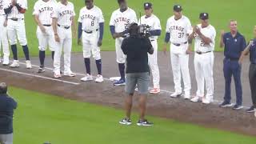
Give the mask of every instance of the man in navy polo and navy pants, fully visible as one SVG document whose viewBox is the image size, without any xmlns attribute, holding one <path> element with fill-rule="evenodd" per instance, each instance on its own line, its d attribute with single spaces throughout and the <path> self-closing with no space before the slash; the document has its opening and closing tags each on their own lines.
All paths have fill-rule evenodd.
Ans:
<svg viewBox="0 0 256 144">
<path fill-rule="evenodd" d="M 246 48 L 246 39 L 238 32 L 238 22 L 230 20 L 230 32 L 224 33 L 222 30 L 220 47 L 224 48 L 225 58 L 223 60 L 223 72 L 225 78 L 225 96 L 224 101 L 219 105 L 220 107 L 230 107 L 231 104 L 231 78 L 234 77 L 236 104 L 233 110 L 242 109 L 242 84 L 241 84 L 241 69 L 242 65 L 238 60 L 242 51 Z"/>
</svg>

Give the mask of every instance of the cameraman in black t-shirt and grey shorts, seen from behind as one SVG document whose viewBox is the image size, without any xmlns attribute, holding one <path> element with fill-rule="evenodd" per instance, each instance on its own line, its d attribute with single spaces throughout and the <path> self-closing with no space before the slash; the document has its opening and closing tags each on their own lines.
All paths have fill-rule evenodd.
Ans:
<svg viewBox="0 0 256 144">
<path fill-rule="evenodd" d="M 145 117 L 146 95 L 150 83 L 150 67 L 148 65 L 148 55 L 154 53 L 150 39 L 146 34 L 139 32 L 140 27 L 137 23 L 131 24 L 129 28 L 130 37 L 122 42 L 122 51 L 126 54 L 126 118 L 119 123 L 130 125 L 130 113 L 133 102 L 133 95 L 136 85 L 138 85 L 140 118 L 138 126 L 153 126 Z"/>
</svg>

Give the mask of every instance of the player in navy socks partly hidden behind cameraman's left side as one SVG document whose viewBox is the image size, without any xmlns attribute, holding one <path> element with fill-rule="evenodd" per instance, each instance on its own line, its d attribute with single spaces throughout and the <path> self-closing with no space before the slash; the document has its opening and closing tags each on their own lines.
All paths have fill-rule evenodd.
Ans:
<svg viewBox="0 0 256 144">
<path fill-rule="evenodd" d="M 133 22 L 138 22 L 136 13 L 127 6 L 126 0 L 118 0 L 119 9 L 114 10 L 110 18 L 110 32 L 115 39 L 115 50 L 117 54 L 118 69 L 121 78 L 114 82 L 114 86 L 126 85 L 125 62 L 126 56 L 123 54 L 122 40 L 128 36 L 128 27 Z"/>
</svg>

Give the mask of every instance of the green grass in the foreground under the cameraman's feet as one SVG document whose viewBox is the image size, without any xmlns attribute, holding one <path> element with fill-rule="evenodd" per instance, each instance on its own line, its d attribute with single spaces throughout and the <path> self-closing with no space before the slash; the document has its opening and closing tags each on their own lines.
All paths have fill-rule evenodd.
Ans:
<svg viewBox="0 0 256 144">
<path fill-rule="evenodd" d="M 255 137 L 149 117 L 152 127 L 120 126 L 122 110 L 10 88 L 18 101 L 14 143 L 40 144 L 250 144 Z M 134 114 L 134 121 L 138 115 Z"/>
</svg>

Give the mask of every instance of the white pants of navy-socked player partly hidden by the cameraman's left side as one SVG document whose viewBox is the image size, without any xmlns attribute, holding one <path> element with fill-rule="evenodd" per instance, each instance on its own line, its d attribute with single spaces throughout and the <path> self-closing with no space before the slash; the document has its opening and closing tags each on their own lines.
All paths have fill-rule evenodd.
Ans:
<svg viewBox="0 0 256 144">
<path fill-rule="evenodd" d="M 124 38 L 116 38 L 115 39 L 115 52 L 117 55 L 118 63 L 126 63 L 126 55 L 123 54 L 122 49 L 121 49 L 123 39 Z"/>
</svg>

